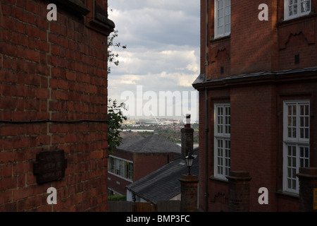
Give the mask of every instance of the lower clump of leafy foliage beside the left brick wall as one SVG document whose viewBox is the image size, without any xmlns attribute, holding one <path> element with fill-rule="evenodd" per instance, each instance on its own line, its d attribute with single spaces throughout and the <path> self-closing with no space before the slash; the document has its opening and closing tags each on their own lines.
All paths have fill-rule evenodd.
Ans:
<svg viewBox="0 0 317 226">
<path fill-rule="evenodd" d="M 116 100 L 108 100 L 108 150 L 112 152 L 113 148 L 120 145 L 122 137 L 120 136 L 121 124 L 127 117 L 123 115 L 123 109 L 125 108 L 125 103 L 120 103 Z"/>
</svg>

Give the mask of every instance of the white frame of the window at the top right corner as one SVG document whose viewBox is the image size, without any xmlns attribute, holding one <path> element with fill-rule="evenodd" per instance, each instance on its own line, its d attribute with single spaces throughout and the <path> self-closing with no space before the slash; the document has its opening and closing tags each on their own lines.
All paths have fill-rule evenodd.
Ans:
<svg viewBox="0 0 317 226">
<path fill-rule="evenodd" d="M 292 1 L 292 2 L 291 2 Z M 305 3 L 309 3 L 309 10 L 302 12 L 302 6 Z M 294 13 L 294 7 L 297 8 L 297 14 L 289 15 L 290 8 L 292 8 L 292 13 Z M 284 20 L 292 20 L 294 18 L 299 18 L 301 16 L 306 16 L 311 12 L 311 0 L 284 0 Z"/>
</svg>

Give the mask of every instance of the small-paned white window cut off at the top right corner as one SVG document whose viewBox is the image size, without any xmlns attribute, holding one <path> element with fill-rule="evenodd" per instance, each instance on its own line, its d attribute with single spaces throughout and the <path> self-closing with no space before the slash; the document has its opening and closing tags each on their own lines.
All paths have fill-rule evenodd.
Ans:
<svg viewBox="0 0 317 226">
<path fill-rule="evenodd" d="M 311 12 L 311 0 L 284 0 L 284 18 L 290 20 Z"/>
</svg>

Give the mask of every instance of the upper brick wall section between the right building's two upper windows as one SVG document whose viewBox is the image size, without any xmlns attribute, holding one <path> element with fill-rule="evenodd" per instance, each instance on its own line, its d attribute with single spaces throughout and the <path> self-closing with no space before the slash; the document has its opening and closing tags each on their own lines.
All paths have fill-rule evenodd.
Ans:
<svg viewBox="0 0 317 226">
<path fill-rule="evenodd" d="M 260 21 L 259 4 L 268 5 L 268 21 Z M 240 75 L 273 69 L 276 42 L 275 1 L 231 2 L 231 74 Z"/>
</svg>

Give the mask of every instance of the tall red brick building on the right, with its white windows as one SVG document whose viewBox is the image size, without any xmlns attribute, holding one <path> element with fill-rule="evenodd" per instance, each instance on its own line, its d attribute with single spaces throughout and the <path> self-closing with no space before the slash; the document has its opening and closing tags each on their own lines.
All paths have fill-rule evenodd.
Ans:
<svg viewBox="0 0 317 226">
<path fill-rule="evenodd" d="M 317 166 L 316 12 L 315 0 L 201 0 L 199 208 L 228 211 L 228 174 L 244 171 L 250 211 L 299 210 L 299 167 Z"/>
</svg>

